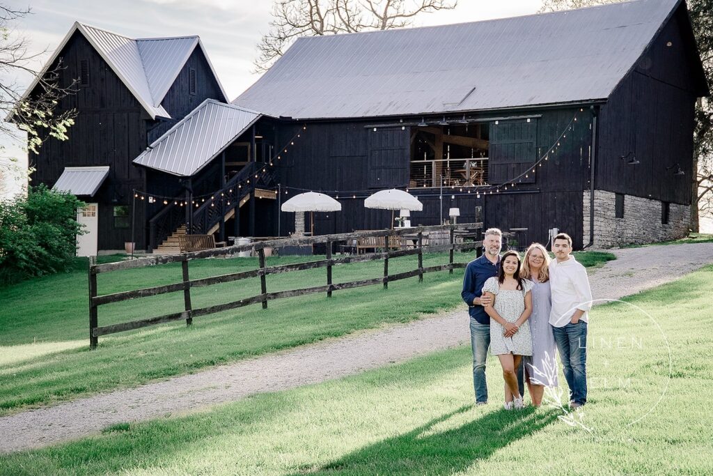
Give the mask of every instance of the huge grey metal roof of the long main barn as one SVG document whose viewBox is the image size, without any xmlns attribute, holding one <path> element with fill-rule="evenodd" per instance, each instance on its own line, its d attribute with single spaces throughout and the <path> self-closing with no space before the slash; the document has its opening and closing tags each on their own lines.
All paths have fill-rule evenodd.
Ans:
<svg viewBox="0 0 713 476">
<path fill-rule="evenodd" d="M 233 103 L 352 118 L 603 99 L 679 1 L 300 38 Z"/>
</svg>

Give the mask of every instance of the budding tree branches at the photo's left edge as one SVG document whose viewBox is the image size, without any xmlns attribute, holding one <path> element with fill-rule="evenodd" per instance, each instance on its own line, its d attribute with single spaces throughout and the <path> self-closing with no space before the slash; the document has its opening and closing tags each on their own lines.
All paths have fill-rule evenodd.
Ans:
<svg viewBox="0 0 713 476">
<path fill-rule="evenodd" d="M 37 153 L 43 141 L 49 137 L 61 141 L 67 139 L 67 129 L 74 123 L 76 111 L 54 114 L 55 106 L 67 94 L 73 93 L 76 81 L 68 86 L 58 83 L 61 62 L 51 69 L 39 71 L 31 63 L 46 51 L 30 54 L 29 41 L 17 34 L 12 24 L 30 14 L 29 9 L 16 10 L 0 5 L 0 109 L 4 118 L 27 133 L 26 147 Z M 16 76 L 29 76 L 37 81 L 34 91 L 24 96 L 26 85 L 6 81 Z M 20 140 L 20 134 L 11 123 L 0 121 L 0 134 Z M 6 166 L 7 167 L 7 166 Z"/>
</svg>

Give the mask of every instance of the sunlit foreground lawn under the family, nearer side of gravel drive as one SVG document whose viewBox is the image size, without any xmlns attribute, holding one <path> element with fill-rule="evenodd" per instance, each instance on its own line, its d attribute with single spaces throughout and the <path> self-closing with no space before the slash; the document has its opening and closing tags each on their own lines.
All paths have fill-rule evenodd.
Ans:
<svg viewBox="0 0 713 476">
<path fill-rule="evenodd" d="M 709 474 L 712 280 L 707 266 L 592 311 L 587 430 L 559 420 L 555 407 L 502 410 L 493 358 L 491 403 L 472 406 L 471 353 L 458 348 L 194 415 L 114 425 L 2 456 L 0 473 Z"/>
</svg>

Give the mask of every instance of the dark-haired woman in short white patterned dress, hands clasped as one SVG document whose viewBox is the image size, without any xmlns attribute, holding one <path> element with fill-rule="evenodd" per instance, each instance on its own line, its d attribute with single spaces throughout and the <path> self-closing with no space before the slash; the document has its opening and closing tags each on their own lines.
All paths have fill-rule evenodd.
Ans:
<svg viewBox="0 0 713 476">
<path fill-rule="evenodd" d="M 488 278 L 483 295 L 491 297 L 485 307 L 491 318 L 491 352 L 498 356 L 505 379 L 505 409 L 523 407 L 515 369 L 523 355 L 532 355 L 528 318 L 533 303 L 533 283 L 520 278 L 520 255 L 508 251 L 501 258 L 500 273 Z"/>
</svg>

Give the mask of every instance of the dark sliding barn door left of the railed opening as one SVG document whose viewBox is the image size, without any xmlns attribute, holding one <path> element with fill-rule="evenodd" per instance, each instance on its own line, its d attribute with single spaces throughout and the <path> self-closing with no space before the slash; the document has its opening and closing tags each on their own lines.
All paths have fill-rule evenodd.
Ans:
<svg viewBox="0 0 713 476">
<path fill-rule="evenodd" d="M 409 127 L 369 130 L 369 188 L 409 184 L 410 137 Z"/>
</svg>

